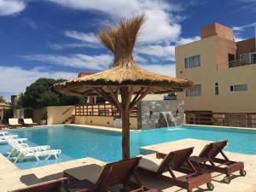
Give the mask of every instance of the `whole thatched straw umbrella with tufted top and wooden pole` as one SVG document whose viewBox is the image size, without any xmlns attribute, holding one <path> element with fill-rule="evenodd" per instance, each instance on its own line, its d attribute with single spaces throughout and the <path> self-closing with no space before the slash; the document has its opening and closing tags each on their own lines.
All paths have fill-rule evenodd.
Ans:
<svg viewBox="0 0 256 192">
<path fill-rule="evenodd" d="M 151 73 L 137 67 L 132 57 L 144 15 L 121 20 L 114 27 L 103 29 L 98 38 L 114 55 L 113 65 L 106 71 L 55 84 L 65 95 L 102 96 L 122 113 L 123 159 L 130 157 L 129 114 L 147 94 L 183 91 L 191 81 Z M 119 96 L 120 95 L 120 101 Z"/>
</svg>

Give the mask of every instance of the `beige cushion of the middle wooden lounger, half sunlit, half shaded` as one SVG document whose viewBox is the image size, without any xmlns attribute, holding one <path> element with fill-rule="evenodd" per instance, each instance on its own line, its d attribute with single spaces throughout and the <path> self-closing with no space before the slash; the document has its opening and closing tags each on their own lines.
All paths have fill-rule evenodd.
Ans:
<svg viewBox="0 0 256 192">
<path fill-rule="evenodd" d="M 156 154 L 147 154 L 142 155 L 142 159 L 140 160 L 139 167 L 142 167 L 143 169 L 150 170 L 152 172 L 157 172 L 159 169 L 159 166 L 162 163 L 162 159 L 157 159 Z"/>
</svg>

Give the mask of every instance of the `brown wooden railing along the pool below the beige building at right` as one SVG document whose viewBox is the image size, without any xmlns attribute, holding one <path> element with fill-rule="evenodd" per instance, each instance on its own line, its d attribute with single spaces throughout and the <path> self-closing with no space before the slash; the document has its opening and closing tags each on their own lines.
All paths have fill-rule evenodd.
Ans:
<svg viewBox="0 0 256 192">
<path fill-rule="evenodd" d="M 185 114 L 187 124 L 256 127 L 256 113 L 185 111 Z"/>
</svg>

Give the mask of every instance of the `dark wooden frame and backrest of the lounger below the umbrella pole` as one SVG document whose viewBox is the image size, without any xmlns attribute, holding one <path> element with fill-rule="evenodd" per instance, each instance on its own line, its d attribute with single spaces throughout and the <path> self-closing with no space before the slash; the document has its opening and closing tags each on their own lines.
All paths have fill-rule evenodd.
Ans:
<svg viewBox="0 0 256 192">
<path fill-rule="evenodd" d="M 71 175 L 66 171 L 64 172 L 64 177 L 68 178 L 69 183 L 65 184 L 63 188 L 70 192 L 108 192 L 110 191 L 110 187 L 122 184 L 125 192 L 157 192 L 156 189 L 150 190 L 143 187 L 142 183 L 137 177 L 137 173 L 135 171 L 140 159 L 140 157 L 137 157 L 129 160 L 120 160 L 109 163 L 101 168 L 101 173 L 99 174 L 99 177 L 96 178 L 96 181 L 92 181 L 92 179 L 78 180 L 74 175 Z M 92 171 L 95 173 L 96 169 L 93 169 Z M 84 175 L 85 174 L 90 174 L 90 172 L 84 172 Z M 134 177 L 136 182 L 131 182 L 131 177 Z"/>
</svg>

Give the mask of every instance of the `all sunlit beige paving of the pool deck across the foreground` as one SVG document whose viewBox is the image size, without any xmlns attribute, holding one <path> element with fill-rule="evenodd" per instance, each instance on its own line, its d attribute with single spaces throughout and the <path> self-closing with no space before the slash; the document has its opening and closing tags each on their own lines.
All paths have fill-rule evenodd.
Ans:
<svg viewBox="0 0 256 192">
<path fill-rule="evenodd" d="M 154 151 L 166 151 L 177 150 L 179 148 L 186 148 L 195 146 L 194 154 L 199 154 L 201 149 L 204 148 L 206 143 L 211 141 L 195 140 L 195 139 L 183 139 L 170 143 L 160 143 L 157 145 L 151 145 L 143 147 L 143 150 Z M 244 161 L 245 170 L 247 171 L 246 177 L 238 176 L 239 173 L 232 176 L 230 184 L 223 183 L 224 175 L 212 174 L 212 183 L 215 186 L 213 191 L 219 192 L 253 192 L 256 191 L 256 155 L 237 154 L 226 152 L 230 160 Z M 17 166 L 7 160 L 2 154 L 0 154 L 0 192 L 7 192 L 12 189 L 20 189 L 34 183 L 41 183 L 44 181 L 56 179 L 62 177 L 63 171 L 79 166 L 91 166 L 91 165 L 104 165 L 101 160 L 95 160 L 93 158 L 84 158 L 79 160 L 71 160 L 49 166 L 40 166 L 28 170 L 20 170 Z M 86 173 L 84 172 L 84 177 Z M 90 175 L 90 172 L 88 172 Z M 237 176 L 237 177 L 236 177 Z M 168 183 L 162 183 L 150 177 L 140 176 L 143 184 L 148 187 L 159 189 L 163 192 L 185 191 L 175 186 L 171 186 Z M 202 185 L 200 189 L 194 189 L 194 191 L 205 191 L 207 187 Z M 113 189 L 113 191 L 117 191 Z"/>
</svg>

